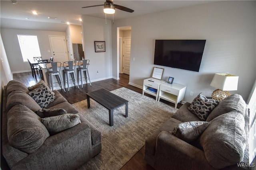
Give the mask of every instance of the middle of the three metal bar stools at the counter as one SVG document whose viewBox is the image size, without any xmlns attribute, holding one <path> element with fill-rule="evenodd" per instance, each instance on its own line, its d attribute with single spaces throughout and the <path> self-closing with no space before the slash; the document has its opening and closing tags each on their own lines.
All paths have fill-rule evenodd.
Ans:
<svg viewBox="0 0 256 170">
<path fill-rule="evenodd" d="M 72 82 L 74 83 L 74 86 L 76 86 L 76 73 L 75 73 L 76 61 L 66 61 L 63 63 L 63 67 L 64 67 L 64 83 L 66 82 L 68 84 L 68 91 L 69 91 L 70 80 L 72 80 Z M 66 79 L 65 74 L 66 74 L 67 80 L 65 80 Z M 71 79 L 69 79 L 69 74 L 71 74 Z M 64 87 L 66 88 L 66 84 L 64 84 Z M 77 83 L 77 87 L 79 88 L 78 83 Z"/>
</svg>

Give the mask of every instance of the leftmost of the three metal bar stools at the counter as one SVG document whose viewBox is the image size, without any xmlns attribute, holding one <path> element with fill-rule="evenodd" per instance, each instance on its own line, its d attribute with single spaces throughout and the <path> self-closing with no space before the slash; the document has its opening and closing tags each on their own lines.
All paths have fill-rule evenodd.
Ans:
<svg viewBox="0 0 256 170">
<path fill-rule="evenodd" d="M 46 66 L 46 70 L 49 74 L 49 81 L 50 81 L 51 89 L 53 90 L 53 87 L 54 87 L 53 86 L 53 84 L 54 84 L 53 76 L 55 76 L 57 81 L 58 81 L 58 84 L 59 84 L 60 88 L 63 89 L 64 92 L 66 93 L 65 88 L 62 87 L 63 81 L 62 81 L 62 78 L 61 78 L 61 75 L 60 75 L 61 63 L 60 62 L 52 62 L 52 63 L 45 64 L 45 66 Z"/>
</svg>

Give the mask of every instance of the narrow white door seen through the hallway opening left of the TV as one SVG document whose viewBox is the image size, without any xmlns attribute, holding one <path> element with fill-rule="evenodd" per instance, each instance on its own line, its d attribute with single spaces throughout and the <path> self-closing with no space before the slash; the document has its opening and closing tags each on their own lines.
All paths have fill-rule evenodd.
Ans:
<svg viewBox="0 0 256 170">
<path fill-rule="evenodd" d="M 123 43 L 123 73 L 130 75 L 131 37 L 124 37 Z"/>
</svg>

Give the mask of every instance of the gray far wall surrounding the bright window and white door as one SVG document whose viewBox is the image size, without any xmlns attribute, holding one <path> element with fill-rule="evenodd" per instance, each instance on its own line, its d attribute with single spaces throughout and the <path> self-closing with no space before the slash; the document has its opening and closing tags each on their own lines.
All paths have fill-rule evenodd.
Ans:
<svg viewBox="0 0 256 170">
<path fill-rule="evenodd" d="M 65 32 L 1 28 L 1 35 L 12 73 L 30 70 L 28 62 L 23 62 L 17 34 L 37 35 L 42 59 L 50 59 L 52 57 L 49 35 L 66 37 Z"/>
</svg>

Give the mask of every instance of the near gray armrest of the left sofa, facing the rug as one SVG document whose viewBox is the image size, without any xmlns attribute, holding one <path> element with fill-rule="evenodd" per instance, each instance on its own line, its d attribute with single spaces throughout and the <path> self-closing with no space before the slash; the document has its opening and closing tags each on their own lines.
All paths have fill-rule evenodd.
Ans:
<svg viewBox="0 0 256 170">
<path fill-rule="evenodd" d="M 48 137 L 38 150 L 17 162 L 12 168 L 66 169 L 66 167 L 69 167 L 70 169 L 75 169 L 91 157 L 90 126 L 83 122 Z"/>
</svg>

